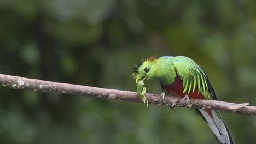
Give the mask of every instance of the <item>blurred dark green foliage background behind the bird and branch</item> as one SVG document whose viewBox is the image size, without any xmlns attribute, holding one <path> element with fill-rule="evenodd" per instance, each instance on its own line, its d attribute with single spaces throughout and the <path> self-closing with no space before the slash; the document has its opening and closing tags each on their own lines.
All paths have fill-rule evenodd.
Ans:
<svg viewBox="0 0 256 144">
<path fill-rule="evenodd" d="M 133 63 L 188 56 L 222 101 L 256 105 L 255 1 L 1 0 L 0 73 L 136 91 Z M 147 92 L 160 94 L 158 81 Z M 194 110 L 0 87 L 1 143 L 217 143 Z M 236 143 L 255 117 L 222 112 Z"/>
</svg>

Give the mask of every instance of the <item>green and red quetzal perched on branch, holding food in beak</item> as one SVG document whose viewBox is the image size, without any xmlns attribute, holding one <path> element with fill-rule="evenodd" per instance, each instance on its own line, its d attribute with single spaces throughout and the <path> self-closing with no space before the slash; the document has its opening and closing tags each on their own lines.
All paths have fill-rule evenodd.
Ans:
<svg viewBox="0 0 256 144">
<path fill-rule="evenodd" d="M 183 97 L 183 100 L 187 99 L 187 102 L 189 98 L 217 100 L 206 73 L 188 57 L 163 56 L 158 59 L 155 56 L 148 57 L 133 69 L 132 76 L 136 79 L 136 83 L 142 80 L 158 79 L 164 90 L 161 93 L 162 98 L 165 92 L 171 92 Z M 142 98 L 144 93 L 139 92 L 138 94 L 142 94 L 139 97 Z M 220 142 L 235 143 L 218 111 L 206 109 L 196 109 L 196 111 Z"/>
</svg>

